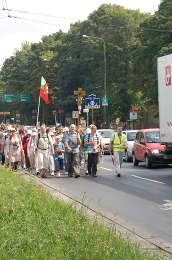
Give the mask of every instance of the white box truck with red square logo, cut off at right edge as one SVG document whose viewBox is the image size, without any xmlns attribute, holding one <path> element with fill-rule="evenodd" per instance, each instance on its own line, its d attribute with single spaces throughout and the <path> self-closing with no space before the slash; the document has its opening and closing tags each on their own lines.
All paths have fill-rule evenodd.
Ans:
<svg viewBox="0 0 172 260">
<path fill-rule="evenodd" d="M 157 58 L 160 142 L 164 158 L 172 158 L 172 54 Z"/>
</svg>

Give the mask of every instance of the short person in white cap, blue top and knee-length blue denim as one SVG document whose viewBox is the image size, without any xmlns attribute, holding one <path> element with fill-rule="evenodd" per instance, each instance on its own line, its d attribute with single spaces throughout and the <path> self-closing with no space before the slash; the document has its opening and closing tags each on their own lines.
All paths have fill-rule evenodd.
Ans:
<svg viewBox="0 0 172 260">
<path fill-rule="evenodd" d="M 55 170 L 57 173 L 57 178 L 60 177 L 60 170 L 63 169 L 63 152 L 65 151 L 64 144 L 61 142 L 60 136 L 55 136 L 55 143 L 54 143 L 54 165 Z"/>
</svg>

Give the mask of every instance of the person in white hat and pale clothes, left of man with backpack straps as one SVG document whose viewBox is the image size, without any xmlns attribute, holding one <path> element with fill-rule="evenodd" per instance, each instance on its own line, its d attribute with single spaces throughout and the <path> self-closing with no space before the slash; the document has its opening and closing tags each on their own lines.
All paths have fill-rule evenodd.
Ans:
<svg viewBox="0 0 172 260">
<path fill-rule="evenodd" d="M 27 133 L 28 133 L 28 131 L 27 131 Z M 35 156 L 33 155 L 33 143 L 34 143 L 35 136 L 36 136 L 36 132 L 32 132 L 31 139 L 28 141 L 28 144 L 27 144 L 27 157 L 29 159 L 30 169 L 32 170 L 33 175 L 35 175 L 36 172 L 38 171 L 37 154 L 35 154 Z"/>
</svg>

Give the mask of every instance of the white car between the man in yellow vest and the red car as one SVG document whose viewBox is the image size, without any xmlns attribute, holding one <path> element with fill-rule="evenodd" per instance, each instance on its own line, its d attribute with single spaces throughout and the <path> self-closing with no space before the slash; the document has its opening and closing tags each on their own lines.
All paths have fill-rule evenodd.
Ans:
<svg viewBox="0 0 172 260">
<path fill-rule="evenodd" d="M 132 147 L 135 139 L 135 133 L 137 130 L 123 130 L 122 133 L 126 135 L 128 148 L 124 151 L 124 159 L 128 162 L 132 160 Z"/>
</svg>

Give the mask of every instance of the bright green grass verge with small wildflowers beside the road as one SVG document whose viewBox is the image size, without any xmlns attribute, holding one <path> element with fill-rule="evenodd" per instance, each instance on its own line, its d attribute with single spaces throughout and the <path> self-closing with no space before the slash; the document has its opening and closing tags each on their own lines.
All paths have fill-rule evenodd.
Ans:
<svg viewBox="0 0 172 260">
<path fill-rule="evenodd" d="M 90 219 L 91 218 L 91 219 Z M 0 260 L 3 259 L 121 259 L 156 260 L 105 226 L 76 210 L 71 202 L 55 200 L 38 187 L 0 166 Z"/>
</svg>

